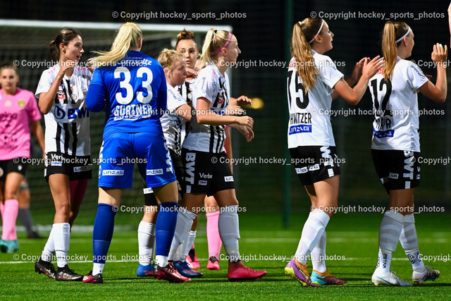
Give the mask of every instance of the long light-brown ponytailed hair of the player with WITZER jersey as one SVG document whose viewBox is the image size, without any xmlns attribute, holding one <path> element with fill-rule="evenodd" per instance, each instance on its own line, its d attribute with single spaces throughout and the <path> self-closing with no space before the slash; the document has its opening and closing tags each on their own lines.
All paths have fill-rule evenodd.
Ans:
<svg viewBox="0 0 451 301">
<path fill-rule="evenodd" d="M 295 57 L 297 75 L 302 80 L 306 94 L 314 87 L 316 76 L 319 75 L 309 41 L 316 36 L 322 23 L 321 18 L 305 18 L 293 27 L 291 54 Z"/>
</svg>

